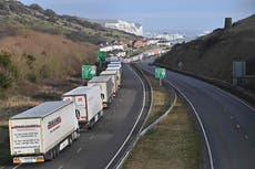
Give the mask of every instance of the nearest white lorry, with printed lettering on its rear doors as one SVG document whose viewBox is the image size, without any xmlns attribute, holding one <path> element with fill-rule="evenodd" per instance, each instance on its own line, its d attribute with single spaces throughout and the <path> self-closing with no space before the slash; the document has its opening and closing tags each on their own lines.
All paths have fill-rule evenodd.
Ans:
<svg viewBox="0 0 255 169">
<path fill-rule="evenodd" d="M 52 160 L 79 137 L 73 102 L 45 102 L 9 119 L 13 163 Z"/>
</svg>

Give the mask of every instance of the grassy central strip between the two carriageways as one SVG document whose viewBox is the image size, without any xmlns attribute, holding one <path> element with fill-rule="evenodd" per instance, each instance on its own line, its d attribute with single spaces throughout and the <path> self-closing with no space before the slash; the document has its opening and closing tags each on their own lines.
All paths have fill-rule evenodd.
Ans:
<svg viewBox="0 0 255 169">
<path fill-rule="evenodd" d="M 161 95 L 166 97 L 167 93 L 162 92 L 160 92 Z M 157 113 L 163 114 L 164 112 L 155 110 L 149 119 L 152 120 L 160 116 Z M 187 107 L 181 98 L 177 99 L 173 113 L 140 139 L 123 168 L 200 168 L 198 135 L 195 131 Z"/>
</svg>

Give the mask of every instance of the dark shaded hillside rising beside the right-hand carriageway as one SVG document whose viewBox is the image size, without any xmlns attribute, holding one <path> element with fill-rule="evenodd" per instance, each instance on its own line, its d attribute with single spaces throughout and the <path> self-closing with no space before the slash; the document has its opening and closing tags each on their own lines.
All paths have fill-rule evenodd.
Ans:
<svg viewBox="0 0 255 169">
<path fill-rule="evenodd" d="M 247 74 L 255 75 L 255 15 L 216 29 L 194 41 L 176 44 L 155 63 L 196 75 L 232 82 L 233 61 L 246 61 Z"/>
</svg>

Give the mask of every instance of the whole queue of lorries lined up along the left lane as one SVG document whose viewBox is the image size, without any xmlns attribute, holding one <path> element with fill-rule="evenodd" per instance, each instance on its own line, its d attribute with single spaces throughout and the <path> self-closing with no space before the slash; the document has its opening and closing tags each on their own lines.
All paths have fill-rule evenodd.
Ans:
<svg viewBox="0 0 255 169">
<path fill-rule="evenodd" d="M 10 151 L 13 163 L 43 162 L 91 129 L 103 116 L 121 87 L 122 65 L 109 59 L 106 71 L 62 95 L 62 101 L 45 102 L 9 119 Z"/>
</svg>

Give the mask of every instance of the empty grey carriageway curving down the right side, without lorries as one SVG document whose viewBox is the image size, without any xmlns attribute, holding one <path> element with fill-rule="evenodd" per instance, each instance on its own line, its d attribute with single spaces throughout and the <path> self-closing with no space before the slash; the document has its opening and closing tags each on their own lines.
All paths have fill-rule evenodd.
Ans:
<svg viewBox="0 0 255 169">
<path fill-rule="evenodd" d="M 141 62 L 154 73 L 155 66 Z M 255 168 L 255 110 L 238 98 L 200 80 L 166 71 L 201 119 L 212 169 Z M 207 141 L 206 141 L 207 139 Z"/>
</svg>

